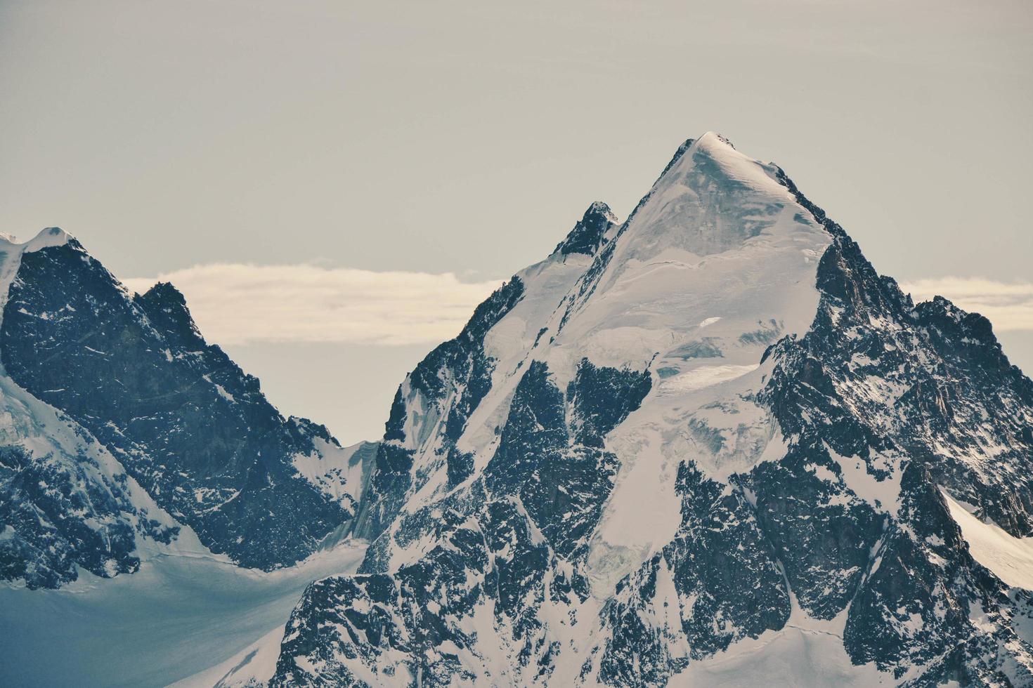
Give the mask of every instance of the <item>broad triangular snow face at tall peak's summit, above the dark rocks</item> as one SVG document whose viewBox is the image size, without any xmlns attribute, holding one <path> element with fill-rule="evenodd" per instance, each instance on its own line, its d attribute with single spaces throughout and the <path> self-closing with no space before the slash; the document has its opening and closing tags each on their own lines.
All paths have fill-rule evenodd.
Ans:
<svg viewBox="0 0 1033 688">
<path fill-rule="evenodd" d="M 555 348 L 576 352 L 555 370 L 582 356 L 640 369 L 657 352 L 685 372 L 709 358 L 755 364 L 773 337 L 810 325 L 828 233 L 777 167 L 712 132 L 690 140 L 571 292 Z"/>
</svg>

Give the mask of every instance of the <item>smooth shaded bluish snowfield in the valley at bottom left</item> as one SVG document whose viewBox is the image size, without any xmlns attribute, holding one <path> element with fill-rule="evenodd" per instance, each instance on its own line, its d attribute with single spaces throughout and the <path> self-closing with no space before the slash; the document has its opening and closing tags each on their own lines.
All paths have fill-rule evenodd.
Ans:
<svg viewBox="0 0 1033 688">
<path fill-rule="evenodd" d="M 251 649 L 246 670 L 264 674 L 305 587 L 353 572 L 364 553 L 342 545 L 272 572 L 165 554 L 132 576 L 83 574 L 60 590 L 0 587 L 0 627 L 18 631 L 0 633 L 0 656 L 20 658 L 0 662 L 0 685 L 163 686 L 195 675 L 185 685 L 206 685 L 208 669 L 243 653 L 236 666 Z"/>
</svg>

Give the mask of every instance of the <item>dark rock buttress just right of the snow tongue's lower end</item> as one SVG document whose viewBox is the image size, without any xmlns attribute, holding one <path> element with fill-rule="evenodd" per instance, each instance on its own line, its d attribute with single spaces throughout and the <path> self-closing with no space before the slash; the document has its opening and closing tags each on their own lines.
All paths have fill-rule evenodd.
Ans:
<svg viewBox="0 0 1033 688">
<path fill-rule="evenodd" d="M 688 464 L 679 470 L 678 492 L 678 535 L 619 583 L 603 610 L 599 680 L 606 685 L 663 685 L 692 659 L 782 628 L 789 618 L 784 576 L 743 494 Z M 658 589 L 661 577 L 676 597 Z M 689 609 L 679 613 L 679 599 L 691 599 Z M 678 645 L 678 631 L 688 640 L 687 654 L 668 649 Z"/>
</svg>

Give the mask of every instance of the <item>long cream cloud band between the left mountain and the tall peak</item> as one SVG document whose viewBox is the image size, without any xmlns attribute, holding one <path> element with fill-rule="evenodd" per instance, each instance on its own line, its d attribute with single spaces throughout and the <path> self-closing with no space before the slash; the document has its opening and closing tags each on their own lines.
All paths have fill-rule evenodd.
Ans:
<svg viewBox="0 0 1033 688">
<path fill-rule="evenodd" d="M 136 292 L 173 283 L 201 333 L 222 345 L 259 341 L 436 343 L 449 339 L 501 281 L 445 272 L 374 272 L 316 265 L 196 265 L 124 280 Z"/>
</svg>

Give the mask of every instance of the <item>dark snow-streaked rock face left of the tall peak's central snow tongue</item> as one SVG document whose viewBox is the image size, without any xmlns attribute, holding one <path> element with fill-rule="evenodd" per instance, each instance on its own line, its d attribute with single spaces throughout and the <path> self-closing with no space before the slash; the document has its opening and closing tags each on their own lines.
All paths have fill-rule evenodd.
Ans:
<svg viewBox="0 0 1033 688">
<path fill-rule="evenodd" d="M 371 547 L 365 574 L 310 586 L 291 615 L 273 685 L 446 686 L 457 677 L 508 683 L 514 679 L 507 673 L 493 671 L 509 662 L 533 665 L 535 676 L 547 679 L 558 647 L 546 640 L 538 612 L 546 602 L 588 597 L 588 582 L 569 562 L 584 559 L 587 529 L 612 487 L 613 458 L 600 438 L 634 411 L 650 385 L 648 373 L 583 361 L 564 393 L 543 364 L 532 363 L 483 473 L 443 502 L 402 517 L 380 547 Z M 378 558 L 387 538 L 402 547 L 436 544 L 387 577 L 374 572 L 388 565 Z M 479 612 L 488 616 L 471 631 L 465 619 L 483 610 L 486 599 L 494 612 Z M 501 662 L 477 654 L 477 633 L 493 627 L 504 629 Z M 370 636 L 379 640 L 363 642 Z M 465 651 L 466 662 L 472 654 L 476 675 L 442 646 Z M 314 671 L 302 668 L 303 656 Z M 356 677 L 341 657 L 359 659 L 371 674 Z"/>
</svg>

